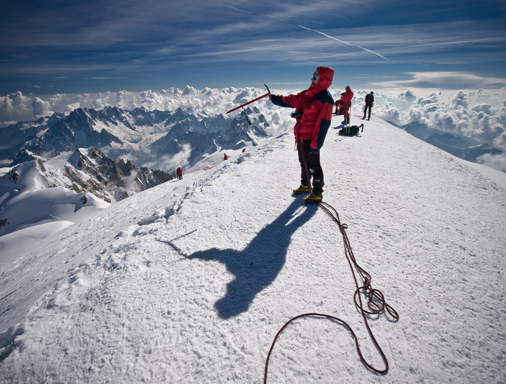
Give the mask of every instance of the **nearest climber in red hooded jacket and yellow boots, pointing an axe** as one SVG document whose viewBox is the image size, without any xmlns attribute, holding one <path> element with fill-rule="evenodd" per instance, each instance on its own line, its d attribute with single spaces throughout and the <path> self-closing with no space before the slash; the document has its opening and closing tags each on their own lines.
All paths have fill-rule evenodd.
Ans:
<svg viewBox="0 0 506 384">
<path fill-rule="evenodd" d="M 301 186 L 293 190 L 294 195 L 309 193 L 313 179 L 313 193 L 304 199 L 307 204 L 323 199 L 323 169 L 320 164 L 320 149 L 330 127 L 334 101 L 328 88 L 332 84 L 334 70 L 320 66 L 313 72 L 311 87 L 297 95 L 270 95 L 269 99 L 280 107 L 295 108 L 296 118 L 293 133 L 297 142 L 301 163 Z M 305 166 L 306 164 L 306 166 Z"/>
</svg>

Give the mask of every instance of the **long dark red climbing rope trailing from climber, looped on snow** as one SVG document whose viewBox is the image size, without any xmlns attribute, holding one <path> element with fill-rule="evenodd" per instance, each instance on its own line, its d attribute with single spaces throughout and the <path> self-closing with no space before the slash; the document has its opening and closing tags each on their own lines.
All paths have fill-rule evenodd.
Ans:
<svg viewBox="0 0 506 384">
<path fill-rule="evenodd" d="M 298 142 L 297 144 L 302 145 L 302 143 L 300 143 L 300 142 Z M 308 178 L 309 190 L 310 190 L 310 193 L 313 193 L 312 188 L 311 188 L 311 179 L 309 179 L 308 167 L 307 167 L 307 163 L 306 163 L 306 154 L 304 153 L 304 151 L 301 151 L 301 152 L 302 152 L 302 158 L 304 160 L 304 167 L 306 169 L 306 177 Z M 383 362 L 385 364 L 385 369 L 374 368 L 371 364 L 369 364 L 365 360 L 365 358 L 362 355 L 362 352 L 360 350 L 358 338 L 357 338 L 355 332 L 344 320 L 342 320 L 338 317 L 335 317 L 335 316 L 325 315 L 325 314 L 320 314 L 320 313 L 305 313 L 302 315 L 295 316 L 295 317 L 291 318 L 290 320 L 288 320 L 281 327 L 281 329 L 276 333 L 276 336 L 274 337 L 274 340 L 272 342 L 269 353 L 267 354 L 267 359 L 265 362 L 264 384 L 267 383 L 269 359 L 271 357 L 271 353 L 274 349 L 274 345 L 276 344 L 276 340 L 278 339 L 278 336 L 288 326 L 288 324 L 290 324 L 292 321 L 300 319 L 302 317 L 308 317 L 308 316 L 324 317 L 324 318 L 332 319 L 332 320 L 342 323 L 346 328 L 348 328 L 348 330 L 352 334 L 353 338 L 355 339 L 355 345 L 357 347 L 358 355 L 365 366 L 367 366 L 370 370 L 372 370 L 376 373 L 381 373 L 381 374 L 387 373 L 388 369 L 389 369 L 387 357 L 385 356 L 385 353 L 383 352 L 383 350 L 379 346 L 376 338 L 374 337 L 374 334 L 372 333 L 372 330 L 369 326 L 369 322 L 367 320 L 367 315 L 379 315 L 384 310 L 386 310 L 390 314 L 390 316 L 392 316 L 394 318 L 394 321 L 397 321 L 397 320 L 399 320 L 399 314 L 395 311 L 395 309 L 393 309 L 390 305 L 387 304 L 387 302 L 385 300 L 385 296 L 383 295 L 383 293 L 381 291 L 379 291 L 378 289 L 372 288 L 371 275 L 367 271 L 365 271 L 362 267 L 360 267 L 359 264 L 357 263 L 357 260 L 355 259 L 355 255 L 353 254 L 353 250 L 351 248 L 350 240 L 348 239 L 348 235 L 346 234 L 346 229 L 348 228 L 348 226 L 346 224 L 341 223 L 341 221 L 339 219 L 338 211 L 336 211 L 334 207 L 332 207 L 330 204 L 328 204 L 324 201 L 317 202 L 316 204 L 318 205 L 318 207 L 323 209 L 325 211 L 325 213 L 328 216 L 330 216 L 330 218 L 339 226 L 339 230 L 343 236 L 346 259 L 348 260 L 348 264 L 350 265 L 350 269 L 351 269 L 353 278 L 355 280 L 355 285 L 356 285 L 356 289 L 353 294 L 353 300 L 354 300 L 357 308 L 360 310 L 360 313 L 362 314 L 362 318 L 364 319 L 365 327 L 367 328 L 367 332 L 369 333 L 369 336 L 370 336 L 372 342 L 374 343 L 376 350 L 378 351 L 378 353 L 381 355 L 381 357 L 383 359 Z M 362 279 L 361 283 L 359 283 L 359 278 L 357 277 L 358 275 Z M 367 302 L 366 302 L 367 307 L 364 306 L 364 303 L 362 301 L 362 294 L 367 295 Z"/>
</svg>

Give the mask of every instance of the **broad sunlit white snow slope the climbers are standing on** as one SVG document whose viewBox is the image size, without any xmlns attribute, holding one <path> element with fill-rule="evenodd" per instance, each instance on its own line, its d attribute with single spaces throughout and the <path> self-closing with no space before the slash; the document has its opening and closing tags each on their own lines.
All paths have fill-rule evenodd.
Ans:
<svg viewBox="0 0 506 384">
<path fill-rule="evenodd" d="M 340 120 L 323 196 L 400 315 L 369 316 L 390 370 L 368 370 L 340 323 L 307 317 L 281 333 L 268 382 L 505 382 L 506 190 L 382 120 L 359 137 Z M 290 195 L 293 144 L 287 130 L 4 263 L 0 383 L 261 383 L 277 331 L 307 312 L 345 320 L 383 369 L 338 226 Z"/>
</svg>

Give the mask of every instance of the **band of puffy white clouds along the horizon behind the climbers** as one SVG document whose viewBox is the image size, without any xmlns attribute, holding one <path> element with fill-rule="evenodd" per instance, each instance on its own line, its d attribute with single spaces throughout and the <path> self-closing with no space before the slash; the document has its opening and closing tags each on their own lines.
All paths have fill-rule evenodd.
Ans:
<svg viewBox="0 0 506 384">
<path fill-rule="evenodd" d="M 273 90 L 287 95 L 301 90 Z M 334 99 L 344 90 L 330 89 Z M 370 90 L 355 90 L 352 113 L 362 115 L 363 100 Z M 143 92 L 106 92 L 97 94 L 56 94 L 49 97 L 23 95 L 20 91 L 0 96 L 0 127 L 18 121 L 36 120 L 54 112 L 69 113 L 75 108 L 102 109 L 117 106 L 124 110 L 144 107 L 148 110 L 192 110 L 207 116 L 216 116 L 266 93 L 258 88 L 225 88 L 197 90 L 187 86 L 181 90 L 171 88 Z M 423 89 L 390 89 L 374 91 L 372 114 L 398 125 L 412 121 L 425 123 L 431 128 L 462 135 L 488 143 L 506 151 L 506 90 L 483 89 L 477 91 L 427 92 Z M 270 124 L 271 135 L 286 129 L 293 121 L 284 108 L 262 99 L 257 107 Z M 239 113 L 238 112 L 235 113 Z M 358 123 L 359 121 L 357 121 Z M 353 123 L 353 121 L 352 121 Z M 480 158 L 480 162 L 506 172 L 506 154 Z"/>
</svg>

